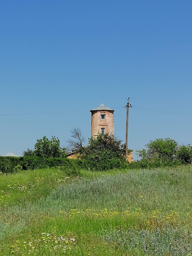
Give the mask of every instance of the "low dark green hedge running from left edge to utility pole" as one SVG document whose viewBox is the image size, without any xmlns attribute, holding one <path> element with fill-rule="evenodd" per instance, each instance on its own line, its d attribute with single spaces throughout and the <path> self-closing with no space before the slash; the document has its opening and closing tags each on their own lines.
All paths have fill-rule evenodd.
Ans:
<svg viewBox="0 0 192 256">
<path fill-rule="evenodd" d="M 60 166 L 68 176 L 79 175 L 80 169 L 109 170 L 113 168 L 126 168 L 126 162 L 119 158 L 109 159 L 107 156 L 94 161 L 94 159 L 68 159 L 68 158 L 43 158 L 37 156 L 0 156 L 0 172 L 11 173 L 20 170 L 34 170 Z"/>
</svg>

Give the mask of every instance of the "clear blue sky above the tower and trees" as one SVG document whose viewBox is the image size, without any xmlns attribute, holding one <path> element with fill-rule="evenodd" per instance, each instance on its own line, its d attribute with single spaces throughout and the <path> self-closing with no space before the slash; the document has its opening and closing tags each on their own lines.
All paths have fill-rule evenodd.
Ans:
<svg viewBox="0 0 192 256">
<path fill-rule="evenodd" d="M 38 138 L 90 137 L 90 110 L 114 112 L 128 147 L 192 144 L 191 0 L 2 0 L 0 155 Z M 135 158 L 135 156 L 134 156 Z"/>
</svg>

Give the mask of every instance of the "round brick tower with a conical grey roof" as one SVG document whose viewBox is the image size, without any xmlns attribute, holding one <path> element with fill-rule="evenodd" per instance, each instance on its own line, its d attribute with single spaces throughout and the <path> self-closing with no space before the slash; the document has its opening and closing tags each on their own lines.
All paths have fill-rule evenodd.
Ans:
<svg viewBox="0 0 192 256">
<path fill-rule="evenodd" d="M 90 110 L 91 112 L 91 136 L 98 133 L 114 135 L 114 110 L 107 108 L 103 104 Z"/>
</svg>

